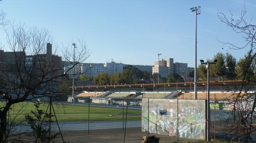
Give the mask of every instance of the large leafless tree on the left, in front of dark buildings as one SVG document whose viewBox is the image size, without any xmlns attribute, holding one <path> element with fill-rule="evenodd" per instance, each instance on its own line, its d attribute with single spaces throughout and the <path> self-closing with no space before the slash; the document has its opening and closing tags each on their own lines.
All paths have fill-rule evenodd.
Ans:
<svg viewBox="0 0 256 143">
<path fill-rule="evenodd" d="M 62 58 L 55 55 L 49 43 L 53 38 L 46 28 L 12 23 L 4 29 L 11 52 L 6 52 L 3 56 L 5 59 L 0 61 L 0 101 L 5 102 L 0 104 L 0 143 L 9 140 L 7 114 L 12 105 L 23 101 L 38 103 L 36 98 L 60 99 L 70 91 L 70 84 L 66 87 L 61 84 L 68 80 L 67 76 L 73 75 L 72 72 L 64 74 L 61 59 L 74 67 L 90 55 L 82 40 L 79 40 L 75 57 L 70 57 L 73 54 L 70 54 L 69 45 L 63 45 Z"/>
</svg>

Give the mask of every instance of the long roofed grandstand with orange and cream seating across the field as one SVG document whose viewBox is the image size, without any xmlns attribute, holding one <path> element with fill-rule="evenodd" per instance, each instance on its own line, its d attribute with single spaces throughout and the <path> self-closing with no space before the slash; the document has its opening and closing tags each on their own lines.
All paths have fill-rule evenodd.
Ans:
<svg viewBox="0 0 256 143">
<path fill-rule="evenodd" d="M 235 92 L 230 89 L 237 88 L 241 81 L 212 81 L 210 90 L 211 101 L 233 101 L 237 98 Z M 165 84 L 131 84 L 131 85 L 106 85 L 76 87 L 80 93 L 75 96 L 77 102 L 92 101 L 95 103 L 120 104 L 129 99 L 141 102 L 142 98 L 179 98 L 194 99 L 193 83 L 165 83 Z M 190 85 L 190 86 L 189 86 Z M 254 87 L 256 83 L 251 84 Z M 198 99 L 207 100 L 207 92 L 204 82 L 198 82 Z M 234 90 L 233 90 L 234 91 Z M 254 96 L 247 95 L 244 100 Z M 89 100 L 89 98 L 91 100 Z M 71 101 L 69 99 L 69 101 Z"/>
</svg>

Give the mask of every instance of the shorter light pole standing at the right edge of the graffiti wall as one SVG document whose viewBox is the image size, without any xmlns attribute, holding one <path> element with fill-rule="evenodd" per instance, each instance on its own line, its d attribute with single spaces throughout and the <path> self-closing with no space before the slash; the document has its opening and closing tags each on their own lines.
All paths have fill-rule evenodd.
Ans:
<svg viewBox="0 0 256 143">
<path fill-rule="evenodd" d="M 216 64 L 217 59 L 214 62 L 204 62 L 204 60 L 200 60 L 201 64 L 205 64 L 207 68 L 207 141 L 210 141 L 210 64 Z"/>
</svg>

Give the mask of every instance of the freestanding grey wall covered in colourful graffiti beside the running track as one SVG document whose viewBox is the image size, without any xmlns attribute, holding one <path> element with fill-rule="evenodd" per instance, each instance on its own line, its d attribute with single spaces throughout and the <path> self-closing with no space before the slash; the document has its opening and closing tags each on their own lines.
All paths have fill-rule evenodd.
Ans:
<svg viewBox="0 0 256 143">
<path fill-rule="evenodd" d="M 205 140 L 205 108 L 205 100 L 143 98 L 142 131 Z"/>
</svg>

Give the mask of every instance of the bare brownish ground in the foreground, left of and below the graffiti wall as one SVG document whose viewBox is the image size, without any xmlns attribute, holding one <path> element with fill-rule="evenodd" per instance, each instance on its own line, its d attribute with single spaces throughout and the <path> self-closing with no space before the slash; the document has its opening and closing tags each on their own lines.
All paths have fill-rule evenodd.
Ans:
<svg viewBox="0 0 256 143">
<path fill-rule="evenodd" d="M 125 143 L 140 143 L 142 136 L 148 135 L 148 133 L 140 132 L 140 129 L 141 128 L 127 129 L 125 134 Z M 122 133 L 122 129 L 94 130 L 90 131 L 89 135 L 88 131 L 70 131 L 63 132 L 63 136 L 64 141 L 70 143 L 124 143 L 124 133 Z M 169 137 L 166 135 L 155 136 L 160 137 L 160 143 L 177 142 L 177 137 Z M 179 139 L 179 141 L 186 140 Z M 60 138 L 58 139 L 58 142 L 61 142 Z"/>
</svg>

